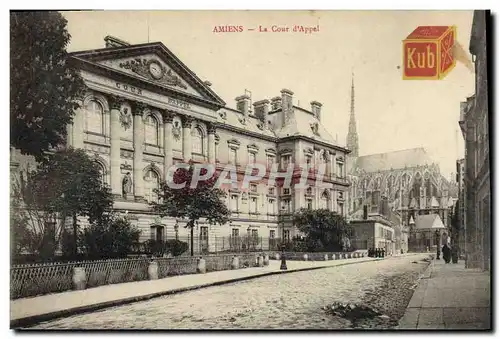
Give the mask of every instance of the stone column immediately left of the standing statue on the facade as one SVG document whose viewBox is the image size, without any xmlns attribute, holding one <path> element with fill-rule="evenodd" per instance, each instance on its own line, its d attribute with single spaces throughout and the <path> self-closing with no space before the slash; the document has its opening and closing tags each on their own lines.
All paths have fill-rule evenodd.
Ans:
<svg viewBox="0 0 500 339">
<path fill-rule="evenodd" d="M 110 97 L 110 120 L 111 120 L 111 193 L 115 196 L 122 196 L 121 173 L 120 173 L 120 108 L 123 99 L 120 97 Z"/>
</svg>

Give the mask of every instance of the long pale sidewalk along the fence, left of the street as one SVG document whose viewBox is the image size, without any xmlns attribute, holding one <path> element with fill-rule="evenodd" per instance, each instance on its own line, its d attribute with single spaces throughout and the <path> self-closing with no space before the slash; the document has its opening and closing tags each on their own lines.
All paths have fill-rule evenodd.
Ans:
<svg viewBox="0 0 500 339">
<path fill-rule="evenodd" d="M 105 285 L 82 291 L 42 295 L 10 301 L 11 328 L 29 326 L 41 321 L 118 306 L 162 295 L 222 285 L 267 275 L 350 265 L 375 258 L 339 259 L 329 261 L 287 261 L 287 271 L 280 270 L 281 261 L 270 260 L 269 266 L 239 270 L 173 276 L 159 280 Z"/>
</svg>

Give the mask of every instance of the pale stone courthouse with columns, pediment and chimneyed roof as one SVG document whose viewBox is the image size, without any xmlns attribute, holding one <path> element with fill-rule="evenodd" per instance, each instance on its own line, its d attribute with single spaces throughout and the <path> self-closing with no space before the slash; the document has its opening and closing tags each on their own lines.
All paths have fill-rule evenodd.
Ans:
<svg viewBox="0 0 500 339">
<path fill-rule="evenodd" d="M 99 163 L 114 208 L 142 231 L 141 241 L 187 237 L 185 221 L 160 218 L 148 206 L 157 199 L 154 189 L 166 170 L 181 161 L 219 168 L 229 163 L 241 173 L 248 163 L 268 168 L 277 163 L 282 169 L 290 163 L 326 165 L 322 188 L 312 179 L 302 189 L 261 183 L 228 191 L 231 222 L 221 227 L 200 221 L 196 251 L 230 249 L 230 242 L 216 238 L 292 238 L 296 229 L 290 216 L 301 207 L 347 213 L 349 151 L 321 124 L 321 103 L 298 107 L 293 92 L 283 89 L 253 103 L 241 95 L 232 109 L 163 43 L 129 45 L 108 36 L 105 44 L 71 54 L 88 90 L 68 126 L 68 145 L 87 150 Z M 16 152 L 11 157 L 13 170 L 25 170 L 26 157 Z M 84 227 L 86 221 L 79 221 Z"/>
</svg>

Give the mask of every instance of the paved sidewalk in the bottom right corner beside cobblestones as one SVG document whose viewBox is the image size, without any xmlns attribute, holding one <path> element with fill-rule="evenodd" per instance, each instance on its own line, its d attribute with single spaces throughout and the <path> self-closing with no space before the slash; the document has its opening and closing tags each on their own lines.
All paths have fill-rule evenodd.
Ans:
<svg viewBox="0 0 500 339">
<path fill-rule="evenodd" d="M 433 260 L 398 329 L 491 329 L 490 273 Z"/>
</svg>

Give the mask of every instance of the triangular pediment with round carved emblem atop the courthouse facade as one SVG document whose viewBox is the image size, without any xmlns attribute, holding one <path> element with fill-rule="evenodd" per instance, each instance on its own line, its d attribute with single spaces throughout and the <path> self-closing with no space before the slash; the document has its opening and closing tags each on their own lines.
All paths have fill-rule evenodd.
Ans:
<svg viewBox="0 0 500 339">
<path fill-rule="evenodd" d="M 71 56 L 86 66 L 106 70 L 108 74 L 116 72 L 145 85 L 159 86 L 216 106 L 225 106 L 206 82 L 159 42 L 74 52 Z"/>
</svg>

